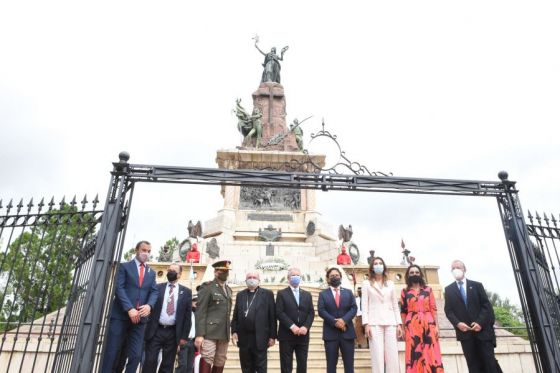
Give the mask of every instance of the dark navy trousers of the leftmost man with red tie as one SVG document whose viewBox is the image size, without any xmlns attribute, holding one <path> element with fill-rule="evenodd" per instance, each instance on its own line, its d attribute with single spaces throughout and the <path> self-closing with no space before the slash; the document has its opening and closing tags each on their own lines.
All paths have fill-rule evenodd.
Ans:
<svg viewBox="0 0 560 373">
<path fill-rule="evenodd" d="M 130 320 L 110 319 L 107 329 L 107 347 L 103 356 L 101 373 L 112 373 L 117 366 L 121 348 L 126 341 L 126 373 L 135 373 L 142 357 L 146 324 L 133 324 Z"/>
</svg>

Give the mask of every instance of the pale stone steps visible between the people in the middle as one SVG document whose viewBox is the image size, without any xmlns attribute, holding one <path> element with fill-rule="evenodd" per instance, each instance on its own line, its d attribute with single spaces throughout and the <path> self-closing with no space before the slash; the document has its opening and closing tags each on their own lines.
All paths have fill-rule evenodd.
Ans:
<svg viewBox="0 0 560 373">
<path fill-rule="evenodd" d="M 284 289 L 287 285 L 269 285 L 263 284 L 263 287 L 270 289 L 274 292 Z M 243 287 L 234 288 L 234 293 L 237 290 L 243 290 Z M 327 371 L 327 362 L 325 360 L 325 349 L 323 347 L 322 330 L 323 330 L 323 319 L 317 314 L 317 300 L 321 289 L 316 287 L 305 287 L 302 289 L 307 290 L 311 293 L 313 297 L 313 304 L 315 305 L 315 320 L 313 321 L 313 326 L 310 330 L 310 340 L 309 340 L 309 354 L 307 357 L 307 371 L 309 373 L 324 373 Z M 234 295 L 235 301 L 235 295 Z M 226 361 L 226 366 L 224 372 L 233 373 L 240 372 L 241 365 L 239 363 L 239 350 L 232 344 L 228 348 L 228 359 Z M 296 361 L 294 356 L 294 372 L 296 367 Z M 371 372 L 370 354 L 368 349 L 356 349 L 354 354 L 354 368 L 356 373 L 369 373 Z M 339 358 L 339 371 L 343 371 L 342 358 Z M 270 373 L 280 373 L 280 353 L 278 347 L 278 341 L 276 344 L 268 349 L 268 372 Z"/>
</svg>

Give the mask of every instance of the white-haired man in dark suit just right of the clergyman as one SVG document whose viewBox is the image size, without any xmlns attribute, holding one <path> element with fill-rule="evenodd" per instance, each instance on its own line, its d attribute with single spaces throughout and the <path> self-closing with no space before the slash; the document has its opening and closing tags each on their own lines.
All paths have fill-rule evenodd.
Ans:
<svg viewBox="0 0 560 373">
<path fill-rule="evenodd" d="M 280 370 L 282 373 L 292 372 L 295 352 L 297 373 L 305 373 L 309 351 L 309 329 L 315 318 L 315 308 L 311 293 L 299 287 L 301 271 L 298 268 L 288 270 L 288 282 L 290 286 L 276 294 Z"/>
</svg>

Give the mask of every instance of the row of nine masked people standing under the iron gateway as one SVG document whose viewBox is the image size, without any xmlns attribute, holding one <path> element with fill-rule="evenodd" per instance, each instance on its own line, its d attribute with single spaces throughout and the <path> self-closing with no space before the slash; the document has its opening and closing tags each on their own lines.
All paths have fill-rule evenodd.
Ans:
<svg viewBox="0 0 560 373">
<path fill-rule="evenodd" d="M 278 291 L 260 286 L 260 274 L 246 274 L 246 288 L 236 295 L 227 285 L 231 262 L 213 264 L 214 279 L 191 290 L 178 284 L 181 266 L 171 264 L 168 282 L 156 285 L 155 273 L 146 262 L 147 241 L 136 246 L 135 258 L 119 266 L 115 299 L 107 331 L 102 373 L 192 372 L 195 350 L 197 371 L 221 373 L 230 343 L 239 349 L 241 371 L 267 371 L 267 350 L 279 344 L 282 373 L 307 371 L 309 333 L 315 317 L 311 293 L 300 288 L 301 271 L 288 271 L 289 286 Z M 467 280 L 461 261 L 452 263 L 455 281 L 445 289 L 445 314 L 461 342 L 469 372 L 498 372 L 494 358 L 494 314 L 481 283 Z M 344 372 L 354 372 L 358 304 L 352 290 L 343 288 L 338 267 L 326 271 L 328 288 L 317 302 L 323 319 L 327 373 L 336 372 L 339 355 Z M 406 372 L 443 372 L 439 346 L 437 306 L 432 289 L 417 265 L 408 267 L 406 285 L 398 297 L 380 257 L 370 262 L 369 276 L 361 287 L 361 320 L 371 352 L 374 373 L 400 372 L 398 340 L 405 341 Z M 400 298 L 400 299 L 399 299 Z M 360 299 L 360 298 L 358 298 Z M 194 307 L 193 307 L 194 306 Z M 231 315 L 231 318 L 230 318 Z M 143 358 L 142 358 L 143 356 Z"/>
</svg>

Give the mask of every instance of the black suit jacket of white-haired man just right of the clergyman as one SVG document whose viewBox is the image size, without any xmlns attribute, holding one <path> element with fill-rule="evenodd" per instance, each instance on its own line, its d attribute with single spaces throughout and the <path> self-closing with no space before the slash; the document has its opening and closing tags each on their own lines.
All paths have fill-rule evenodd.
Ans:
<svg viewBox="0 0 560 373">
<path fill-rule="evenodd" d="M 315 318 L 315 307 L 311 293 L 299 289 L 299 306 L 291 287 L 282 289 L 276 294 L 276 318 L 278 319 L 279 341 L 302 341 L 309 342 L 309 331 Z M 290 326 L 305 326 L 308 330 L 306 335 L 294 335 Z"/>
</svg>

